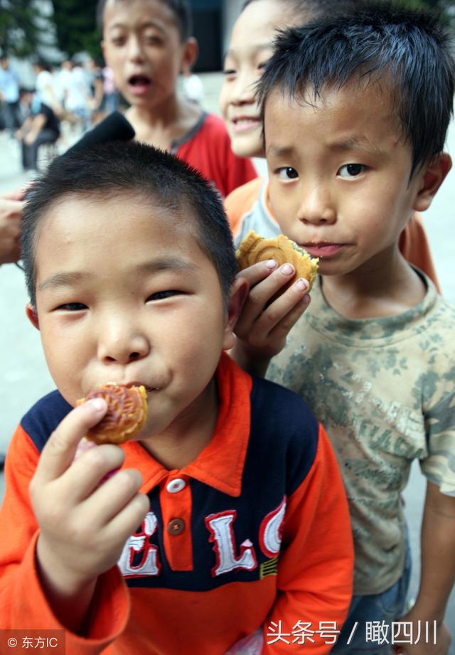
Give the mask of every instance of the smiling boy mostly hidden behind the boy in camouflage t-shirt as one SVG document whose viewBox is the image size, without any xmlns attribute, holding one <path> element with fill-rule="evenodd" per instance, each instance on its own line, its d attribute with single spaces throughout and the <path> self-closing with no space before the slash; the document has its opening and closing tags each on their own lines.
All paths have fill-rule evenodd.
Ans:
<svg viewBox="0 0 455 655">
<path fill-rule="evenodd" d="M 235 23 L 225 58 L 225 82 L 220 107 L 238 156 L 263 157 L 262 122 L 255 95 L 255 82 L 272 54 L 276 31 L 355 9 L 353 0 L 249 0 Z M 253 44 L 253 46 L 252 46 Z M 239 243 L 250 231 L 274 237 L 280 228 L 269 203 L 269 181 L 257 178 L 233 191 L 225 201 L 228 219 Z M 400 236 L 400 250 L 436 284 L 439 282 L 432 261 L 422 219 L 414 213 Z"/>
</svg>

